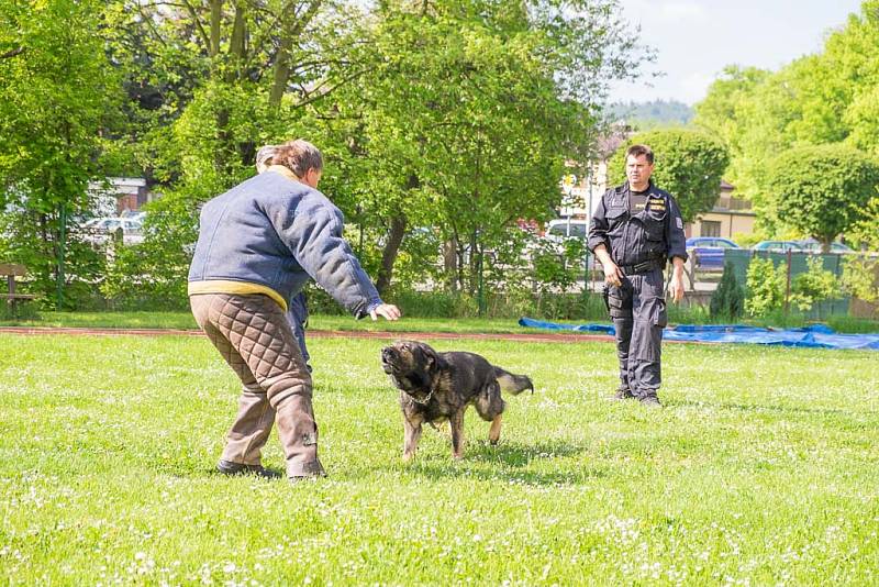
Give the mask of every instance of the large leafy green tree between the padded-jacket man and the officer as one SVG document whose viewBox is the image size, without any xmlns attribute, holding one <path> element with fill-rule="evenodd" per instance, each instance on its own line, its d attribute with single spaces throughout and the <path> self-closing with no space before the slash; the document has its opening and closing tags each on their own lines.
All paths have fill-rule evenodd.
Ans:
<svg viewBox="0 0 879 587">
<path fill-rule="evenodd" d="M 565 159 L 585 160 L 596 135 L 590 97 L 634 65 L 609 5 L 378 4 L 352 58 L 364 75 L 340 90 L 330 124 L 353 171 L 333 187 L 385 228 L 380 290 L 413 230 L 431 226 L 446 283 L 474 290 L 483 251 L 518 219 L 550 213 Z"/>
</svg>

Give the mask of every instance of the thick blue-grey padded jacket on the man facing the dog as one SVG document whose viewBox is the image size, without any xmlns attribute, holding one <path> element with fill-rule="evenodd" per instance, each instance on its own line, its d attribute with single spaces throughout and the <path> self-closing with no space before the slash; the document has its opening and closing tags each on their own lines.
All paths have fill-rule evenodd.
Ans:
<svg viewBox="0 0 879 587">
<path fill-rule="evenodd" d="M 289 300 L 311 277 L 363 318 L 382 302 L 342 225 L 316 189 L 271 170 L 254 176 L 202 207 L 189 283 L 257 284 Z"/>
</svg>

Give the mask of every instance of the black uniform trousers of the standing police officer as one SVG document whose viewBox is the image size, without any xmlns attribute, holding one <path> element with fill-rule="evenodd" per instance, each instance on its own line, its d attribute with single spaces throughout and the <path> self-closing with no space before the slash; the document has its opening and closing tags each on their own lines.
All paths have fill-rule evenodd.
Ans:
<svg viewBox="0 0 879 587">
<path fill-rule="evenodd" d="M 622 286 L 608 286 L 620 383 L 637 398 L 656 396 L 661 381 L 663 328 L 668 323 L 663 270 L 627 275 Z"/>
</svg>

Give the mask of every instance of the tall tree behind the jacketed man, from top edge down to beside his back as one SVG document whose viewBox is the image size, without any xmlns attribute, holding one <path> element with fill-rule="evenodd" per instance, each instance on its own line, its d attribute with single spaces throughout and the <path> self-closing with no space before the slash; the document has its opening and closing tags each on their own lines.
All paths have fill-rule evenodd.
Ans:
<svg viewBox="0 0 879 587">
<path fill-rule="evenodd" d="M 109 47 L 130 122 L 118 159 L 163 197 L 140 256 L 119 257 L 107 291 L 130 291 L 144 270 L 157 295 L 181 290 L 200 203 L 253 175 L 260 145 L 313 139 L 314 108 L 356 76 L 349 12 L 359 9 L 324 0 L 114 4 Z"/>
</svg>

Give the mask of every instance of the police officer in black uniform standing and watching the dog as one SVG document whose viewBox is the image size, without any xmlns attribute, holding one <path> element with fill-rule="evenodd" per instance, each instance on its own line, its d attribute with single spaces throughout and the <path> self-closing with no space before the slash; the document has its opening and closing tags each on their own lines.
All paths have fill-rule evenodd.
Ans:
<svg viewBox="0 0 879 587">
<path fill-rule="evenodd" d="M 650 147 L 628 148 L 628 181 L 601 198 L 588 244 L 604 268 L 604 299 L 616 331 L 620 388 L 614 399 L 659 407 L 663 328 L 668 322 L 663 269 L 671 258 L 669 294 L 680 301 L 687 251 L 677 202 L 650 181 L 653 162 Z"/>
</svg>

